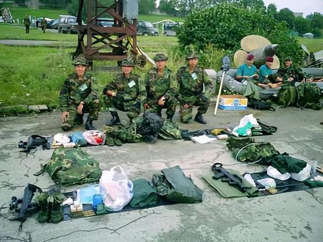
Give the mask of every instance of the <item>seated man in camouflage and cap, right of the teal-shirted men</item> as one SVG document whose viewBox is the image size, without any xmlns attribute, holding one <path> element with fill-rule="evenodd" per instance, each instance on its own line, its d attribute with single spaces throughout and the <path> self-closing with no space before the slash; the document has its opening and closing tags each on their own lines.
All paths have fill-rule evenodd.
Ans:
<svg viewBox="0 0 323 242">
<path fill-rule="evenodd" d="M 304 74 L 301 69 L 293 66 L 292 57 L 288 56 L 284 59 L 284 67 L 279 68 L 277 75 L 280 76 L 284 81 L 291 83 L 301 82 L 304 79 Z"/>
</svg>

